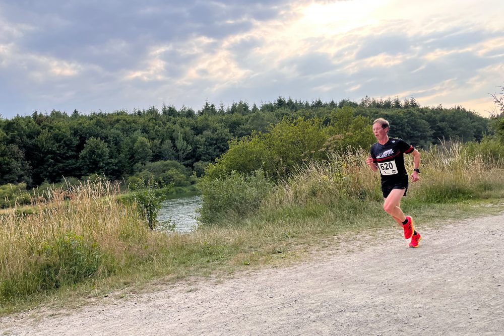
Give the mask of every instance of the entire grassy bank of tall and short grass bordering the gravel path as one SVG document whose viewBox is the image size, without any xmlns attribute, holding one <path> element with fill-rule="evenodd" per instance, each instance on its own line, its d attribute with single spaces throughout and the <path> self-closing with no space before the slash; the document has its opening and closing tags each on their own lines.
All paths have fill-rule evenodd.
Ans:
<svg viewBox="0 0 504 336">
<path fill-rule="evenodd" d="M 308 257 L 304 252 L 313 247 L 334 246 L 336 235 L 394 226 L 382 210 L 378 176 L 365 166 L 366 155 L 310 163 L 271 187 L 258 209 L 246 211 L 245 202 L 191 234 L 149 231 L 135 204 L 117 202 L 120 191 L 108 184 L 54 190 L 46 199 L 50 207 L 36 204 L 32 215 L 0 216 L 0 313 L 42 302 L 79 305 L 111 292 L 127 296 L 155 279 L 285 264 Z M 502 161 L 454 146 L 423 152 L 421 167 L 421 182 L 411 185 L 402 204 L 419 229 L 504 209 Z M 216 183 L 227 192 L 243 188 Z"/>
</svg>

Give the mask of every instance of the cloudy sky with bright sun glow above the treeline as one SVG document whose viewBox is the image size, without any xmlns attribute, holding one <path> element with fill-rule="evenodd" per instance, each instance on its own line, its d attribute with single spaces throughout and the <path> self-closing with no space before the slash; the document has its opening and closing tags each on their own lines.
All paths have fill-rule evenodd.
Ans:
<svg viewBox="0 0 504 336">
<path fill-rule="evenodd" d="M 415 97 L 486 114 L 502 0 L 0 0 L 0 114 Z"/>
</svg>

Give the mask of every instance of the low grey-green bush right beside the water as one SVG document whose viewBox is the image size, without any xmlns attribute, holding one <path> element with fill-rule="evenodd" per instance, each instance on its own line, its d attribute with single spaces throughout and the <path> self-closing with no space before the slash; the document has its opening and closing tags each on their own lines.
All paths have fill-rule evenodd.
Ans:
<svg viewBox="0 0 504 336">
<path fill-rule="evenodd" d="M 259 169 L 251 174 L 232 171 L 222 178 L 204 177 L 197 186 L 203 197 L 200 221 L 212 224 L 230 213 L 244 216 L 257 210 L 274 184 Z"/>
</svg>

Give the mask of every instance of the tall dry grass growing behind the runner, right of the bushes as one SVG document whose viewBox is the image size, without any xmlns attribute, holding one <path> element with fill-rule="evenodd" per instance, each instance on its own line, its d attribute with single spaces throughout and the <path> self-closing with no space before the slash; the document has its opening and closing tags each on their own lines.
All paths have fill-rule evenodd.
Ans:
<svg viewBox="0 0 504 336">
<path fill-rule="evenodd" d="M 330 207 L 382 201 L 380 174 L 365 164 L 368 152 L 333 155 L 330 160 L 309 162 L 281 181 L 263 202 L 263 211 L 310 204 Z M 405 156 L 411 173 L 413 160 Z M 462 143 L 445 143 L 421 151 L 420 182 L 410 183 L 408 199 L 423 203 L 450 203 L 468 198 L 503 195 L 504 160 L 485 151 L 468 151 Z"/>
</svg>

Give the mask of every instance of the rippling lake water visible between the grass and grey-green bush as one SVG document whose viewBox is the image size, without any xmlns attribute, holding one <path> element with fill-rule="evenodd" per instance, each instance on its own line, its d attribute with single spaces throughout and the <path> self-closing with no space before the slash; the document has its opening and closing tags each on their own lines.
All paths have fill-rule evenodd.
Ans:
<svg viewBox="0 0 504 336">
<path fill-rule="evenodd" d="M 201 204 L 202 199 L 199 195 L 165 200 L 158 214 L 159 224 L 156 229 L 168 231 L 166 227 L 163 227 L 162 222 L 170 220 L 170 223 L 175 223 L 177 232 L 193 231 L 198 227 L 196 209 L 201 208 Z"/>
</svg>

